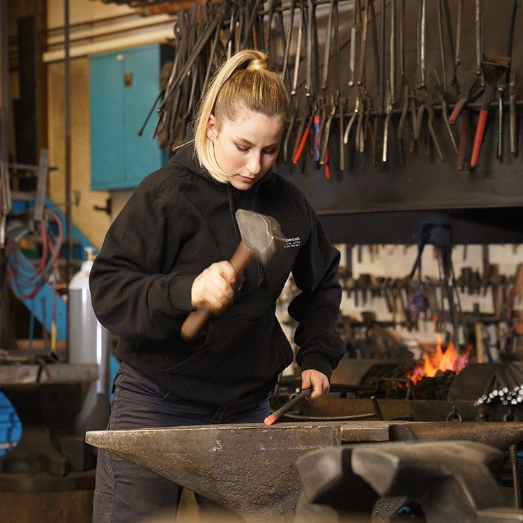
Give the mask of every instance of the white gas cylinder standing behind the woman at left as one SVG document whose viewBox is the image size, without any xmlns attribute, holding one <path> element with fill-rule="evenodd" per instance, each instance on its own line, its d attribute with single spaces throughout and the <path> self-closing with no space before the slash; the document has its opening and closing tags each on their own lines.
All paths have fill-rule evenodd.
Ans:
<svg viewBox="0 0 523 523">
<path fill-rule="evenodd" d="M 75 420 L 75 433 L 84 437 L 87 430 L 103 430 L 109 419 L 108 358 L 109 333 L 93 311 L 89 273 L 93 266 L 93 248 L 87 247 L 87 259 L 69 283 L 69 363 L 96 363 L 98 380 L 86 391 L 82 410 Z"/>
</svg>

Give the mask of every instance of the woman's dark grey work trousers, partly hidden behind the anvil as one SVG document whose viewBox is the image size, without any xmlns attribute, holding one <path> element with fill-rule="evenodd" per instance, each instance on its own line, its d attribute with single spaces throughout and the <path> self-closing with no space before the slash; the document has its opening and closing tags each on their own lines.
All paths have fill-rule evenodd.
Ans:
<svg viewBox="0 0 523 523">
<path fill-rule="evenodd" d="M 233 407 L 185 402 L 125 363 L 120 365 L 114 378 L 113 390 L 107 430 L 259 423 L 270 414 L 268 397 Z M 180 494 L 179 485 L 98 450 L 93 523 L 140 522 L 169 511 L 174 521 Z M 201 508 L 212 510 L 212 501 L 199 496 L 197 500 Z"/>
</svg>

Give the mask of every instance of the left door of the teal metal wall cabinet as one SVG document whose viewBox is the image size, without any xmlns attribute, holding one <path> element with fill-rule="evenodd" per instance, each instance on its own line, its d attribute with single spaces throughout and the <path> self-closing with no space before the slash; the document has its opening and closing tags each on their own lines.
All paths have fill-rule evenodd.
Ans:
<svg viewBox="0 0 523 523">
<path fill-rule="evenodd" d="M 89 60 L 93 190 L 118 187 L 125 181 L 123 61 L 124 57 L 118 52 L 91 56 Z"/>
</svg>

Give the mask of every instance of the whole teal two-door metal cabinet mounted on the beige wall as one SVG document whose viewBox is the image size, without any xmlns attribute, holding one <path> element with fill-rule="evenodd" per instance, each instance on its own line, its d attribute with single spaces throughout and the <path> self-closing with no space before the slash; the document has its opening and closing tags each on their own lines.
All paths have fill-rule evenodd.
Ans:
<svg viewBox="0 0 523 523">
<path fill-rule="evenodd" d="M 91 189 L 135 187 L 167 162 L 167 153 L 151 138 L 155 114 L 143 135 L 137 132 L 158 96 L 169 50 L 151 44 L 91 56 Z"/>
</svg>

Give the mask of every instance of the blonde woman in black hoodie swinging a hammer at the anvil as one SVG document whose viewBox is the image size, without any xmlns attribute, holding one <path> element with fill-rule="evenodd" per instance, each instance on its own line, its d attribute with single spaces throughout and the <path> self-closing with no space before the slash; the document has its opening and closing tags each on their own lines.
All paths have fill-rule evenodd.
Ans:
<svg viewBox="0 0 523 523">
<path fill-rule="evenodd" d="M 271 172 L 289 98 L 263 52 L 244 50 L 218 70 L 196 119 L 195 139 L 133 192 L 91 271 L 93 308 L 120 336 L 108 428 L 257 423 L 292 361 L 275 305 L 289 273 L 299 294 L 296 362 L 310 401 L 328 392 L 344 352 L 335 335 L 340 253 L 301 192 Z M 289 238 L 263 266 L 236 275 L 234 212 L 275 218 Z M 233 300 L 234 298 L 234 300 Z M 219 314 L 197 338 L 180 331 L 206 305 Z M 177 485 L 100 451 L 94 517 L 140 520 L 173 508 Z"/>
</svg>

